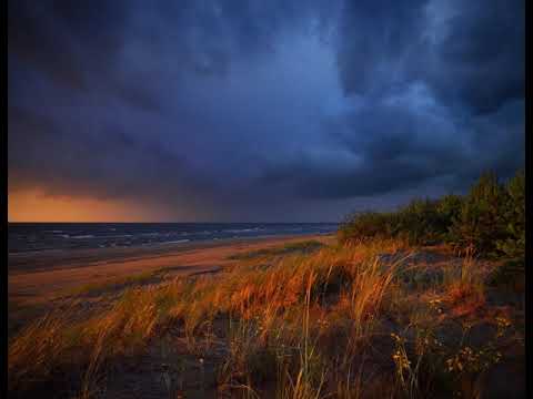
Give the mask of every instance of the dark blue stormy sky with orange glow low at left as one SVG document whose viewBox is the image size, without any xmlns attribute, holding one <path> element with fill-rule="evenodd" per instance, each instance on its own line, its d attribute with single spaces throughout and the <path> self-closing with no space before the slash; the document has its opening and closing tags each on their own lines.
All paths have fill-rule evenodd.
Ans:
<svg viewBox="0 0 533 399">
<path fill-rule="evenodd" d="M 523 0 L 8 10 L 10 221 L 339 221 L 524 163 Z"/>
</svg>

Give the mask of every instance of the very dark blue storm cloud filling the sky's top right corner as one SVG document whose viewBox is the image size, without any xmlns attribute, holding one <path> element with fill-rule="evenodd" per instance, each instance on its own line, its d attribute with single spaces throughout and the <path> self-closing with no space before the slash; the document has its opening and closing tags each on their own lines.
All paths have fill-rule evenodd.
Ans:
<svg viewBox="0 0 533 399">
<path fill-rule="evenodd" d="M 460 2 L 446 22 L 428 78 L 445 100 L 459 98 L 475 113 L 496 112 L 524 96 L 524 1 Z"/>
</svg>

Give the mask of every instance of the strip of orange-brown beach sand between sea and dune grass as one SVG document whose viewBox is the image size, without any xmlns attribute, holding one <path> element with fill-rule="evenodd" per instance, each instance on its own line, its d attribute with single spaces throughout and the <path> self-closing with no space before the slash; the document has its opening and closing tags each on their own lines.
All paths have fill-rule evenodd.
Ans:
<svg viewBox="0 0 533 399">
<path fill-rule="evenodd" d="M 69 288 L 103 284 L 161 268 L 171 268 L 177 275 L 217 272 L 232 262 L 228 259 L 231 255 L 306 239 L 329 242 L 333 237 L 275 236 L 151 247 L 47 250 L 10 255 L 9 301 L 20 305 L 39 304 Z"/>
</svg>

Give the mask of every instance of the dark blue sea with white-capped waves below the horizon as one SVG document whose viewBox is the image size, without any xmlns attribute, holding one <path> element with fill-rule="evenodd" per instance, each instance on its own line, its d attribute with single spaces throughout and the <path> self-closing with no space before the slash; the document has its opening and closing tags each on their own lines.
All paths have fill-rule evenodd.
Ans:
<svg viewBox="0 0 533 399">
<path fill-rule="evenodd" d="M 338 227 L 335 223 L 9 223 L 8 250 L 19 254 L 328 234 Z"/>
</svg>

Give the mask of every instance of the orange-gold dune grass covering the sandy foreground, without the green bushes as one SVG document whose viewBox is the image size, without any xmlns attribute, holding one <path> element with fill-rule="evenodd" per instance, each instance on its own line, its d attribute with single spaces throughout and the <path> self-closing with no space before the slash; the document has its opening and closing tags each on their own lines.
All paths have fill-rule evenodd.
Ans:
<svg viewBox="0 0 533 399">
<path fill-rule="evenodd" d="M 14 337 L 9 389 L 32 392 L 76 359 L 79 397 L 97 397 L 109 365 L 140 356 L 174 331 L 184 356 L 202 366 L 197 379 L 204 380 L 203 361 L 215 364 L 215 386 L 203 388 L 220 395 L 452 395 L 475 377 L 457 366 L 465 356 L 477 356 L 485 368 L 501 357 L 496 339 L 469 352 L 461 337 L 446 336 L 447 315 L 459 303 L 470 304 L 463 316 L 484 306 L 483 275 L 469 256 L 439 270 L 440 277 L 416 279 L 436 272 L 411 265 L 415 252 L 400 239 L 308 242 L 240 256 L 215 276 L 129 286 L 107 310 L 88 317 L 54 311 Z M 182 365 L 173 365 L 178 379 L 187 371 Z M 164 380 L 169 392 L 178 389 Z"/>
</svg>

